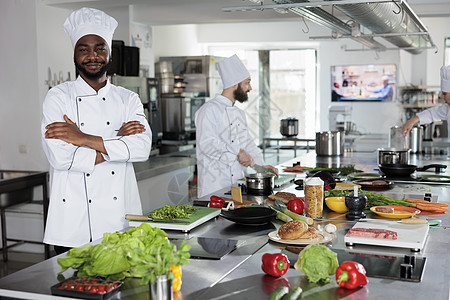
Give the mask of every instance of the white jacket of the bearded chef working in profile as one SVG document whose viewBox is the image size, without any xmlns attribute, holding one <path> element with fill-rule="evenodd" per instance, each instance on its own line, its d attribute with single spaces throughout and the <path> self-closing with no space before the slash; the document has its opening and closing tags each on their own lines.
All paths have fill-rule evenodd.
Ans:
<svg viewBox="0 0 450 300">
<path fill-rule="evenodd" d="M 222 95 L 203 104 L 195 114 L 198 197 L 231 187 L 244 176 L 237 155 L 242 148 L 264 164 L 261 150 L 247 128 L 245 112 Z"/>
</svg>

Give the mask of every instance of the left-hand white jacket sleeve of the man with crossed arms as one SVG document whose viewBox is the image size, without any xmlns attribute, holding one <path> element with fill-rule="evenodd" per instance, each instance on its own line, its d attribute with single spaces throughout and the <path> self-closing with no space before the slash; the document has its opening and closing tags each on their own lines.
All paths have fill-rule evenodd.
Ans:
<svg viewBox="0 0 450 300">
<path fill-rule="evenodd" d="M 54 122 L 65 122 L 64 114 L 70 113 L 64 108 L 64 95 L 57 89 L 48 92 L 43 105 L 41 136 L 44 153 L 55 170 L 92 172 L 95 166 L 96 151 L 87 147 L 74 146 L 59 139 L 46 139 L 45 127 Z"/>
</svg>

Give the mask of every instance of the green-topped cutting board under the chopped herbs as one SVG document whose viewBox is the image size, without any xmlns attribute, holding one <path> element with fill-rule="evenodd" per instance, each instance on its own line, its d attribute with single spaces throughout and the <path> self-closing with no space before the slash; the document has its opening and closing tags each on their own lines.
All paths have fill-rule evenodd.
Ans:
<svg viewBox="0 0 450 300">
<path fill-rule="evenodd" d="M 161 229 L 170 229 L 170 230 L 180 230 L 183 232 L 188 232 L 193 228 L 215 218 L 221 212 L 218 208 L 211 207 L 202 207 L 195 206 L 198 210 L 190 216 L 187 220 L 189 223 L 164 223 L 164 222 L 151 222 L 151 221 L 129 221 L 129 225 L 132 227 L 137 227 L 142 223 L 148 223 L 153 227 L 161 228 Z M 152 212 L 145 214 L 146 216 L 150 216 Z"/>
</svg>

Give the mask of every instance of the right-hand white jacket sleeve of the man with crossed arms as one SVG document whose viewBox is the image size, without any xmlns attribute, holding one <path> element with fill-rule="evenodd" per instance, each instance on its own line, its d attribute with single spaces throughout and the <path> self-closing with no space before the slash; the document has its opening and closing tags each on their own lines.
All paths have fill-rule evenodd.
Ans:
<svg viewBox="0 0 450 300">
<path fill-rule="evenodd" d="M 129 136 L 117 136 L 103 139 L 108 155 L 103 154 L 106 161 L 137 162 L 146 161 L 152 148 L 152 131 L 144 114 L 144 108 L 139 96 L 135 93 L 128 95 L 127 120 L 139 121 L 145 126 L 145 131 Z"/>
</svg>

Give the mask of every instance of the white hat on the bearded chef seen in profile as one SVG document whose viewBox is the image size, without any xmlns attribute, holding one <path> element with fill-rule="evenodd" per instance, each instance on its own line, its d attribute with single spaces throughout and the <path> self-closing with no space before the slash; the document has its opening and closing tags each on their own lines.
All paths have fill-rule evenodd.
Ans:
<svg viewBox="0 0 450 300">
<path fill-rule="evenodd" d="M 247 68 L 236 54 L 218 62 L 217 69 L 220 78 L 222 78 L 223 89 L 227 89 L 250 77 Z"/>
</svg>

